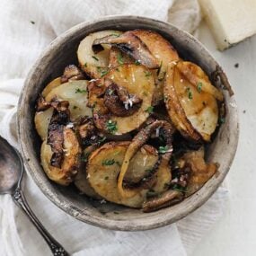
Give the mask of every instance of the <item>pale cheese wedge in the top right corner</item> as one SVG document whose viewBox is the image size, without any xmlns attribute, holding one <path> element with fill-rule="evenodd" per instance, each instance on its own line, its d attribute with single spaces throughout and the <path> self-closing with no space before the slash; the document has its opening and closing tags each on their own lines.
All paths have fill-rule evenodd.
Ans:
<svg viewBox="0 0 256 256">
<path fill-rule="evenodd" d="M 256 33 L 255 0 L 199 0 L 220 50 Z"/>
</svg>

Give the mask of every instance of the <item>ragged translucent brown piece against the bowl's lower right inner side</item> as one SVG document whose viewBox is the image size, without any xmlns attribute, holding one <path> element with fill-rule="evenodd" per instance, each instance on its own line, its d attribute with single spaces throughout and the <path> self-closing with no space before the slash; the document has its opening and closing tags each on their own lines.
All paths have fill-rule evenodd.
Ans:
<svg viewBox="0 0 256 256">
<path fill-rule="evenodd" d="M 190 196 L 199 190 L 215 173 L 216 163 L 206 163 L 204 148 L 198 151 L 190 151 L 184 154 L 181 159 L 190 166 L 190 179 L 186 190 L 186 196 Z"/>
</svg>

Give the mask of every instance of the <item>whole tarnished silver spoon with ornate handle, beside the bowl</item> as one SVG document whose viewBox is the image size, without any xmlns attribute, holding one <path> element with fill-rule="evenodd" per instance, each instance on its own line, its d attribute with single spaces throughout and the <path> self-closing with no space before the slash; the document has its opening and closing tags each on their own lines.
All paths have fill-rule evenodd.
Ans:
<svg viewBox="0 0 256 256">
<path fill-rule="evenodd" d="M 29 207 L 21 189 L 24 172 L 21 155 L 3 137 L 0 137 L 0 194 L 11 194 L 14 202 L 29 216 L 55 256 L 68 256 L 65 249 L 40 224 Z"/>
</svg>

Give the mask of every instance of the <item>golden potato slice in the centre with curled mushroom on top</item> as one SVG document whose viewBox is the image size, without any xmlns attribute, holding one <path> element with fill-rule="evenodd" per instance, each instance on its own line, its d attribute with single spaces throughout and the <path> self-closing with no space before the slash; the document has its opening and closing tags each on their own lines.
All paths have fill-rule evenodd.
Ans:
<svg viewBox="0 0 256 256">
<path fill-rule="evenodd" d="M 151 106 L 154 92 L 154 77 L 145 66 L 123 65 L 119 69 L 111 69 L 106 77 L 113 80 L 115 84 L 128 89 L 128 93 L 137 95 L 143 100 L 137 112 L 128 117 L 112 116 L 111 121 L 116 123 L 115 135 L 128 133 L 138 128 L 149 116 L 148 108 Z"/>
</svg>

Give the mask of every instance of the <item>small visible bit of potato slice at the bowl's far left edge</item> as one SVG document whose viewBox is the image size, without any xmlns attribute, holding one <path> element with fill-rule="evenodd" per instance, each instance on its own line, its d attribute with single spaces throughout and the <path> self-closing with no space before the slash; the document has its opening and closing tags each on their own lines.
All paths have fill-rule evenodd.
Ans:
<svg viewBox="0 0 256 256">
<path fill-rule="evenodd" d="M 35 127 L 41 140 L 45 140 L 48 136 L 49 121 L 53 113 L 53 108 L 48 110 L 36 112 L 35 114 Z"/>
</svg>

